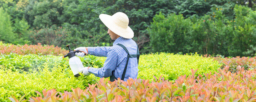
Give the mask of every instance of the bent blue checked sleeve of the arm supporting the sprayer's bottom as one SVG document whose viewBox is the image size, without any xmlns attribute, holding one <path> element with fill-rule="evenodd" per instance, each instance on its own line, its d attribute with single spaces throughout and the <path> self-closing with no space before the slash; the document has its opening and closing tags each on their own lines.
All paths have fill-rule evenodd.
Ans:
<svg viewBox="0 0 256 102">
<path fill-rule="evenodd" d="M 96 77 L 110 77 L 112 71 L 116 69 L 118 61 L 118 55 L 114 49 L 109 50 L 107 54 L 107 59 L 103 64 L 102 68 L 92 68 L 90 67 L 88 71 L 94 74 Z"/>
</svg>

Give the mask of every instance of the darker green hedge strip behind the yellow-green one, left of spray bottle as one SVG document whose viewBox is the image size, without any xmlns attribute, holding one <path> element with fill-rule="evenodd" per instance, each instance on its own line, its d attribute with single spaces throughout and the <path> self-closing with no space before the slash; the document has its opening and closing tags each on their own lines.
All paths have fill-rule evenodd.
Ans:
<svg viewBox="0 0 256 102">
<path fill-rule="evenodd" d="M 54 55 L 0 55 L 0 64 L 6 66 L 7 69 L 12 71 L 33 71 L 44 68 L 48 66 L 53 68 L 56 65 L 65 66 L 68 65 L 68 62 L 64 59 L 61 59 L 61 56 Z M 64 69 L 64 68 L 63 68 Z"/>
</svg>

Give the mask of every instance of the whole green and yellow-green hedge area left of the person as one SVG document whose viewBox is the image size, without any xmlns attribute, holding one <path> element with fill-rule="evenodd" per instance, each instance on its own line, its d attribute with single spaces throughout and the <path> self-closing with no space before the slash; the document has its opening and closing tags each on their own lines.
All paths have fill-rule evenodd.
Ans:
<svg viewBox="0 0 256 102">
<path fill-rule="evenodd" d="M 99 68 L 103 66 L 100 57 L 87 55 L 79 57 L 84 67 Z M 94 84 L 98 77 L 73 77 L 68 65 L 68 58 L 54 55 L 0 55 L 0 101 L 7 102 L 14 95 L 25 98 L 36 95 L 35 91 L 43 89 L 57 89 L 58 91 L 72 91 L 71 88 L 85 89 L 88 84 Z"/>
</svg>

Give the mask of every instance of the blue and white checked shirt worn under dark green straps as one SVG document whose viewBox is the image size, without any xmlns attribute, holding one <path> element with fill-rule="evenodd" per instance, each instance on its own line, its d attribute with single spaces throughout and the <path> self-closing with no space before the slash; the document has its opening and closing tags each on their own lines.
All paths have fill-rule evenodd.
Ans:
<svg viewBox="0 0 256 102">
<path fill-rule="evenodd" d="M 137 54 L 136 42 L 132 39 L 123 37 L 117 38 L 111 47 L 88 47 L 88 54 L 95 56 L 107 57 L 102 68 L 90 67 L 88 71 L 96 77 L 110 77 L 112 73 L 116 78 L 122 77 L 124 67 L 127 61 L 127 52 L 116 44 L 124 45 L 130 54 Z M 129 58 L 124 81 L 130 78 L 137 78 L 138 76 L 138 63 L 137 58 Z"/>
</svg>

